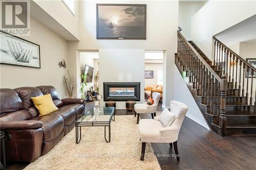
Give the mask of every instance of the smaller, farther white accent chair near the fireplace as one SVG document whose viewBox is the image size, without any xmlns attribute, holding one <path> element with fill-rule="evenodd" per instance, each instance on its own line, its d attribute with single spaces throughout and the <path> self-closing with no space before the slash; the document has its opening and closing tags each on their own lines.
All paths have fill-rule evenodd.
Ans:
<svg viewBox="0 0 256 170">
<path fill-rule="evenodd" d="M 140 118 L 140 114 L 144 114 L 144 113 L 151 113 L 152 118 L 154 118 L 154 116 L 156 116 L 156 112 L 157 112 L 157 106 L 160 100 L 161 94 L 159 92 L 154 92 L 152 93 L 152 99 L 154 100 L 154 104 L 153 105 L 148 105 L 147 102 L 143 102 L 143 103 L 138 103 L 134 105 L 134 110 L 135 110 L 135 117 L 136 114 L 138 114 L 137 117 L 137 124 L 139 123 L 139 118 Z"/>
</svg>

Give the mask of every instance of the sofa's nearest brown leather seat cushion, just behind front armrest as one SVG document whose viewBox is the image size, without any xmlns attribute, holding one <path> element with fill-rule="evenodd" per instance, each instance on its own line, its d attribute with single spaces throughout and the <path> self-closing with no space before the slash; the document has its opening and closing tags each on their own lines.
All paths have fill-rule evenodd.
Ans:
<svg viewBox="0 0 256 170">
<path fill-rule="evenodd" d="M 9 114 L 3 115 L 0 117 L 0 121 L 17 121 L 17 120 L 28 120 L 31 119 L 32 116 L 28 112 L 28 110 L 18 110 L 15 112 L 11 112 Z"/>
</svg>

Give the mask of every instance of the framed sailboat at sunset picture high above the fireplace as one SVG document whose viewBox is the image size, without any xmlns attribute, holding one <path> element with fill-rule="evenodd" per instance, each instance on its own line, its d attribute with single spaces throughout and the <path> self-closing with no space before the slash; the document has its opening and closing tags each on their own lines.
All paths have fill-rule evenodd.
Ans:
<svg viewBox="0 0 256 170">
<path fill-rule="evenodd" d="M 96 4 L 97 39 L 146 39 L 145 4 Z"/>
</svg>

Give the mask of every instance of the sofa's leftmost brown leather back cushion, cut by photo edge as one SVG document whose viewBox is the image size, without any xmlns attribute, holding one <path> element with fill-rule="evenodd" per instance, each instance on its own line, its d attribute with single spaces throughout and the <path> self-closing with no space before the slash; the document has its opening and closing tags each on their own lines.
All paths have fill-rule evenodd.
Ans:
<svg viewBox="0 0 256 170">
<path fill-rule="evenodd" d="M 0 89 L 0 114 L 5 112 L 13 112 L 16 110 L 24 109 L 22 99 L 19 98 L 16 91 L 9 88 Z"/>
</svg>

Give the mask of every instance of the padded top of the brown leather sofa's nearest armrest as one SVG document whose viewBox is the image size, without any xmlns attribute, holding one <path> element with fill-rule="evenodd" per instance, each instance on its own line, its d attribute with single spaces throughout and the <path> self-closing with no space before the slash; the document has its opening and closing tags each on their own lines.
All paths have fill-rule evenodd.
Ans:
<svg viewBox="0 0 256 170">
<path fill-rule="evenodd" d="M 0 122 L 1 130 L 26 130 L 26 129 L 38 129 L 42 127 L 42 123 L 37 120 L 18 120 Z"/>
</svg>

